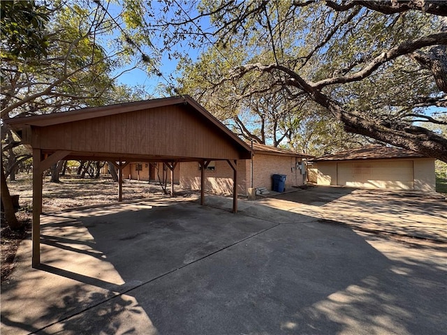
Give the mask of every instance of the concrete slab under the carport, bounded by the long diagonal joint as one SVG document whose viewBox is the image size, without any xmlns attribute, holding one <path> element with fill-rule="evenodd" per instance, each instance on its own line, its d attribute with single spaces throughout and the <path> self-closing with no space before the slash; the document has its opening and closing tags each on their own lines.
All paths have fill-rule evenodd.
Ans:
<svg viewBox="0 0 447 335">
<path fill-rule="evenodd" d="M 228 211 L 175 200 L 43 215 L 43 266 L 36 270 L 24 264 L 10 285 L 2 286 L 7 307 L 2 308 L 2 322 L 22 323 L 24 315 L 12 311 L 25 308 L 31 311 L 26 316 L 34 319 L 33 329 L 45 327 L 54 317 L 78 313 L 273 225 L 253 218 L 240 224 L 240 218 Z M 27 262 L 27 253 L 29 249 L 20 248 L 17 260 Z M 28 292 L 36 281 L 42 285 L 31 286 L 32 298 L 20 298 L 20 292 Z M 69 288 L 78 292 L 75 297 L 65 295 Z M 54 304 L 48 292 L 65 299 Z M 12 315 L 18 319 L 10 319 Z"/>
</svg>

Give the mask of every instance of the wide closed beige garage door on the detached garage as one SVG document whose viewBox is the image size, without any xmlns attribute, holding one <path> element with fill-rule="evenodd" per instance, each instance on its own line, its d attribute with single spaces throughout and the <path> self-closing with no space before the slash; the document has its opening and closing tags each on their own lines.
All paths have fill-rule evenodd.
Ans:
<svg viewBox="0 0 447 335">
<path fill-rule="evenodd" d="M 413 190 L 413 161 L 337 163 L 337 185 Z"/>
</svg>

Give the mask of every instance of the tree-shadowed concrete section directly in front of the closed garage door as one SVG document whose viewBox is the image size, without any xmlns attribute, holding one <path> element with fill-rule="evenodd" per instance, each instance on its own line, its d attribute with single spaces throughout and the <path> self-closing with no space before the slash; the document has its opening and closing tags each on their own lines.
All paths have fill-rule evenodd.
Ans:
<svg viewBox="0 0 447 335">
<path fill-rule="evenodd" d="M 318 186 L 266 204 L 366 231 L 447 242 L 447 202 L 437 193 Z"/>
</svg>

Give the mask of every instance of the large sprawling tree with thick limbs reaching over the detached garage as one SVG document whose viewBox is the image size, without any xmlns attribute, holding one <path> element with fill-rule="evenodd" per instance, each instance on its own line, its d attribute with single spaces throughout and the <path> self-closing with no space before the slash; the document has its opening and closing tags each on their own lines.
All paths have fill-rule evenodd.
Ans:
<svg viewBox="0 0 447 335">
<path fill-rule="evenodd" d="M 165 24 L 182 25 L 179 39 L 191 33 L 240 56 L 210 82 L 235 87 L 228 100 L 268 82 L 289 101 L 320 105 L 349 133 L 447 161 L 446 137 L 425 127 L 445 124 L 446 8 L 442 1 L 203 1 L 196 15 Z M 198 29 L 205 17 L 212 27 Z"/>
</svg>

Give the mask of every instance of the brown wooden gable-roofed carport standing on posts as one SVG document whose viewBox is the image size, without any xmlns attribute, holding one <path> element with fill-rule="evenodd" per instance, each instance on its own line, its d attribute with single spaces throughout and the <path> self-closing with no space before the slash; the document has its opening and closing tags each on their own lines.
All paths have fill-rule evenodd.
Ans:
<svg viewBox="0 0 447 335">
<path fill-rule="evenodd" d="M 111 161 L 119 173 L 131 162 L 166 163 L 171 173 L 180 162 L 201 167 L 226 161 L 233 169 L 233 212 L 237 211 L 237 162 L 251 158 L 251 149 L 190 96 L 160 98 L 9 119 L 6 123 L 33 152 L 32 266 L 41 262 L 40 216 L 43 172 L 61 159 Z M 171 194 L 174 194 L 171 182 Z"/>
</svg>

